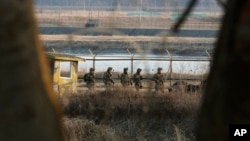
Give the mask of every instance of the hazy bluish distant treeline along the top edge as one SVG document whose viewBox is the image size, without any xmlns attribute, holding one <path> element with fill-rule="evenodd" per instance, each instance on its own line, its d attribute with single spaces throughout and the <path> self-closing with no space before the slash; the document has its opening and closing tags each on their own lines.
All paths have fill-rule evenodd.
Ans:
<svg viewBox="0 0 250 141">
<path fill-rule="evenodd" d="M 36 5 L 51 6 L 109 6 L 109 7 L 131 7 L 142 8 L 185 6 L 189 0 L 35 0 Z M 218 7 L 215 0 L 199 0 L 198 6 Z"/>
</svg>

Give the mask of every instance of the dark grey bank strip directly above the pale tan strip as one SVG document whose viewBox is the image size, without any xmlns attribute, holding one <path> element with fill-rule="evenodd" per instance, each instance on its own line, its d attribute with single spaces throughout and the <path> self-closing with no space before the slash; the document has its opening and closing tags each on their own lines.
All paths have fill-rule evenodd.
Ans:
<svg viewBox="0 0 250 141">
<path fill-rule="evenodd" d="M 79 27 L 40 27 L 41 34 L 74 34 L 74 35 L 127 35 L 127 36 L 162 36 L 169 35 L 169 29 L 143 28 L 79 28 Z M 182 29 L 179 33 L 171 34 L 176 37 L 216 37 L 218 30 Z"/>
</svg>

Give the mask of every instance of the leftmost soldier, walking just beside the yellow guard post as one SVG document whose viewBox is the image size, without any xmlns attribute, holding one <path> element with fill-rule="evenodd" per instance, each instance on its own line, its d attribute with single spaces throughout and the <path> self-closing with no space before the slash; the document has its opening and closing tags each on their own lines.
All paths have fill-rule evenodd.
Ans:
<svg viewBox="0 0 250 141">
<path fill-rule="evenodd" d="M 93 90 L 95 86 L 95 69 L 90 68 L 89 73 L 84 75 L 84 81 L 87 83 L 89 90 Z"/>
</svg>

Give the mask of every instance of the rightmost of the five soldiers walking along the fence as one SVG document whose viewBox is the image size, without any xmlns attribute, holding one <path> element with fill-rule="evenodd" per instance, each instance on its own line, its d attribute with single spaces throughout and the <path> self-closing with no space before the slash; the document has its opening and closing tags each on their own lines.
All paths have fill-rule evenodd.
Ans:
<svg viewBox="0 0 250 141">
<path fill-rule="evenodd" d="M 161 73 L 162 68 L 157 69 L 157 73 L 153 77 L 153 81 L 155 81 L 155 92 L 157 93 L 159 90 L 164 92 L 164 81 L 163 74 Z"/>
</svg>

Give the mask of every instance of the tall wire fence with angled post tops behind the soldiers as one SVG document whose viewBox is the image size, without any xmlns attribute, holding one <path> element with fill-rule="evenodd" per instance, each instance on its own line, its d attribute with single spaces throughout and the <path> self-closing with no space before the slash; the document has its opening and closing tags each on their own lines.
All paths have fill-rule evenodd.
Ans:
<svg viewBox="0 0 250 141">
<path fill-rule="evenodd" d="M 166 52 L 165 57 L 148 57 L 148 56 L 147 57 L 140 57 L 140 56 L 135 57 L 135 54 L 131 53 L 129 49 L 127 49 L 127 52 L 128 52 L 128 55 L 123 56 L 123 57 L 102 56 L 102 55 L 94 54 L 89 49 L 90 57 L 86 58 L 86 63 L 88 65 L 87 67 L 85 65 L 85 67 L 81 68 L 80 71 L 86 73 L 88 72 L 88 68 L 95 68 L 95 69 L 97 68 L 96 70 L 99 74 L 97 76 L 97 80 L 102 80 L 102 73 L 104 73 L 108 67 L 114 67 L 112 65 L 115 65 L 116 68 L 114 72 L 117 73 L 117 75 L 115 75 L 114 79 L 120 80 L 119 73 L 122 72 L 124 67 L 127 67 L 130 70 L 130 76 L 133 76 L 133 74 L 136 72 L 136 69 L 141 67 L 138 65 L 138 62 L 143 62 L 144 63 L 143 70 L 144 70 L 144 75 L 145 75 L 144 80 L 151 81 L 152 75 L 156 73 L 153 70 L 156 70 L 157 69 L 156 66 L 158 66 L 158 67 L 163 67 L 165 69 L 164 70 L 165 82 L 169 81 L 169 84 L 171 85 L 172 81 L 180 80 L 180 78 L 177 78 L 173 74 L 181 75 L 181 73 L 183 74 L 186 73 L 186 75 L 190 75 L 190 76 L 182 77 L 181 78 L 182 80 L 201 81 L 204 78 L 200 78 L 200 77 L 195 78 L 195 77 L 192 77 L 192 75 L 197 75 L 197 74 L 206 75 L 206 73 L 209 70 L 209 67 L 208 68 L 204 67 L 204 68 L 200 68 L 202 69 L 202 72 L 196 72 L 196 70 L 192 69 L 191 67 L 191 68 L 188 68 L 189 70 L 186 70 L 184 72 L 184 69 L 187 69 L 185 68 L 185 66 L 182 66 L 182 68 L 179 68 L 179 69 L 173 69 L 176 66 L 180 65 L 178 64 L 179 62 L 185 62 L 186 65 L 189 64 L 190 62 L 198 62 L 198 63 L 205 62 L 207 63 L 207 65 L 209 65 L 210 62 L 212 61 L 212 55 L 207 50 L 204 50 L 204 52 L 206 52 L 207 54 L 207 56 L 205 57 L 176 57 L 176 56 L 172 56 L 171 53 L 167 49 L 165 50 Z M 155 62 L 157 63 L 160 62 L 160 63 L 159 65 L 153 65 L 153 66 L 147 65 L 147 64 L 154 64 Z M 151 67 L 151 68 L 148 68 L 148 67 Z M 192 72 L 189 72 L 189 71 L 192 71 Z"/>
</svg>

